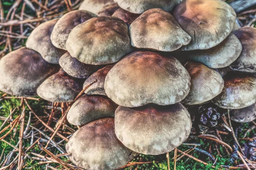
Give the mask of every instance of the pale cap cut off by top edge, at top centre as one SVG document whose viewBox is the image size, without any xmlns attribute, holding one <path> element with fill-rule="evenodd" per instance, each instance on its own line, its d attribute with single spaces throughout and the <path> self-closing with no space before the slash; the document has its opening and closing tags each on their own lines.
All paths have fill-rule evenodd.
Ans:
<svg viewBox="0 0 256 170">
<path fill-rule="evenodd" d="M 172 9 L 182 0 L 114 0 L 118 5 L 135 14 L 142 14 L 151 8 L 162 8 L 165 11 Z"/>
</svg>

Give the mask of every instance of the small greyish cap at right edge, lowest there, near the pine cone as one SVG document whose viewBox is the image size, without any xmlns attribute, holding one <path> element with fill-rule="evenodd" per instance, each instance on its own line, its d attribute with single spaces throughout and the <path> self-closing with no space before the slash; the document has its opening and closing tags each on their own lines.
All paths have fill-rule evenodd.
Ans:
<svg viewBox="0 0 256 170">
<path fill-rule="evenodd" d="M 252 122 L 256 119 L 256 103 L 246 108 L 231 110 L 230 119 L 239 123 Z"/>
</svg>

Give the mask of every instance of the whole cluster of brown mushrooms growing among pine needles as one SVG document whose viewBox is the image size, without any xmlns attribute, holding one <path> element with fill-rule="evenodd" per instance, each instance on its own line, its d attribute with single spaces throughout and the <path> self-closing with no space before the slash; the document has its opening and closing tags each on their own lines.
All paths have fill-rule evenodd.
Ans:
<svg viewBox="0 0 256 170">
<path fill-rule="evenodd" d="M 181 1 L 84 0 L 0 60 L 0 90 L 73 102 L 67 121 L 81 128 L 66 150 L 87 170 L 174 150 L 191 131 L 186 105 L 252 121 L 256 28 L 237 28 L 222 0 Z"/>
</svg>

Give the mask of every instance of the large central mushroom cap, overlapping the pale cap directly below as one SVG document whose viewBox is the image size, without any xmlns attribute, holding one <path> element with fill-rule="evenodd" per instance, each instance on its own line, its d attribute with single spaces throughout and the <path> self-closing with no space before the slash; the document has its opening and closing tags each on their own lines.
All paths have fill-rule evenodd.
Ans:
<svg viewBox="0 0 256 170">
<path fill-rule="evenodd" d="M 188 95 L 190 85 L 189 73 L 174 57 L 137 51 L 113 66 L 104 88 L 118 105 L 139 107 L 180 102 Z"/>
</svg>

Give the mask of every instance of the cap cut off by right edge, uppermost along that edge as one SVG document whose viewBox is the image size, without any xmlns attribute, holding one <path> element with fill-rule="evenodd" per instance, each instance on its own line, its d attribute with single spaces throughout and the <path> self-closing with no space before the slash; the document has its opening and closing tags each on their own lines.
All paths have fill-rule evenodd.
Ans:
<svg viewBox="0 0 256 170">
<path fill-rule="evenodd" d="M 233 31 L 233 34 L 241 41 L 243 50 L 230 68 L 236 71 L 256 72 L 256 28 L 239 28 Z"/>
</svg>

